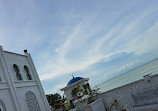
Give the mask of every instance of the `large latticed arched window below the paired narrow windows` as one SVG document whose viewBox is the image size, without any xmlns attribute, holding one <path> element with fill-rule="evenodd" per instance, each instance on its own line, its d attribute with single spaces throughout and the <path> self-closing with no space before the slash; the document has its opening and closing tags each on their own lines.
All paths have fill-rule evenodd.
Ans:
<svg viewBox="0 0 158 111">
<path fill-rule="evenodd" d="M 26 103 L 29 111 L 41 111 L 35 94 L 28 91 L 25 95 Z"/>
</svg>

